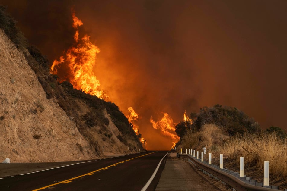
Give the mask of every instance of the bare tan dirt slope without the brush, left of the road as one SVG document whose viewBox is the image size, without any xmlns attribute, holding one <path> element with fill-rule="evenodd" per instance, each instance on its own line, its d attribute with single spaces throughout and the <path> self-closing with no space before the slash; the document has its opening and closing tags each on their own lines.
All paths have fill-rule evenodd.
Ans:
<svg viewBox="0 0 287 191">
<path fill-rule="evenodd" d="M 76 144 L 81 144 L 80 152 Z M 75 123 L 45 92 L 24 55 L 0 29 L 0 160 L 94 158 Z"/>
</svg>

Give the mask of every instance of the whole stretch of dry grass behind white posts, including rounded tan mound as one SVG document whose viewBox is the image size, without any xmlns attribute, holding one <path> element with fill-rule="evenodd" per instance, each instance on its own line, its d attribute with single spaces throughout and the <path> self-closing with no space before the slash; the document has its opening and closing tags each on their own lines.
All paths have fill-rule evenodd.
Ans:
<svg viewBox="0 0 287 191">
<path fill-rule="evenodd" d="M 287 177 L 287 139 L 281 139 L 275 133 L 262 132 L 259 135 L 235 136 L 230 138 L 213 124 L 206 124 L 199 132 L 188 131 L 181 139 L 177 148 L 193 149 L 212 153 L 212 158 L 223 154 L 229 161 L 236 161 L 239 166 L 239 157 L 244 156 L 246 167 L 256 167 L 263 171 L 264 161 L 270 162 L 269 172 L 275 177 Z M 178 151 L 179 151 L 178 150 Z M 208 157 L 207 155 L 205 157 Z M 205 160 L 208 160 L 207 158 Z"/>
</svg>

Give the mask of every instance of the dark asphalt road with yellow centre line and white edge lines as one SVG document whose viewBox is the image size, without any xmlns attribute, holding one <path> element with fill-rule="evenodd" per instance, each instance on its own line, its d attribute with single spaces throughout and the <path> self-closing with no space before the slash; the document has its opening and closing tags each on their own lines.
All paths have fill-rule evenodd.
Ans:
<svg viewBox="0 0 287 191">
<path fill-rule="evenodd" d="M 141 190 L 166 154 L 147 151 L 4 177 L 0 190 Z M 155 189 L 164 164 L 147 190 Z"/>
</svg>

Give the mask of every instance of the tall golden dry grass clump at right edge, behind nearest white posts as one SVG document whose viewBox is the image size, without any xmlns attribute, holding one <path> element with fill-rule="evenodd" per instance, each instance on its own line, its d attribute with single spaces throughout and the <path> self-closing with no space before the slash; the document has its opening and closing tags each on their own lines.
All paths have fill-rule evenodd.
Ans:
<svg viewBox="0 0 287 191">
<path fill-rule="evenodd" d="M 245 166 L 264 167 L 264 161 L 270 161 L 269 172 L 276 176 L 287 176 L 287 139 L 281 139 L 276 133 L 262 133 L 234 137 L 220 147 L 219 152 L 238 161 L 244 156 Z"/>
</svg>

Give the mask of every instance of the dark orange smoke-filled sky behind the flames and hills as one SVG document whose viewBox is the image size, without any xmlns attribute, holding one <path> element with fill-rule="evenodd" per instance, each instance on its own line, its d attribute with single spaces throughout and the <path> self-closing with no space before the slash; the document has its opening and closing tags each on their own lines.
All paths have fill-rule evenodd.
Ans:
<svg viewBox="0 0 287 191">
<path fill-rule="evenodd" d="M 169 149 L 156 123 L 235 106 L 263 129 L 287 129 L 286 1 L 15 1 L 8 12 L 52 63 L 73 46 L 71 8 L 100 52 L 94 74 L 149 150 Z"/>
</svg>

